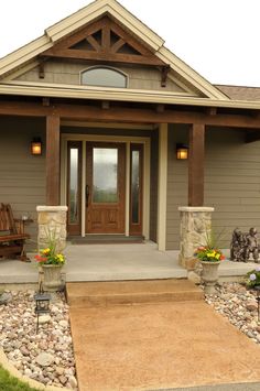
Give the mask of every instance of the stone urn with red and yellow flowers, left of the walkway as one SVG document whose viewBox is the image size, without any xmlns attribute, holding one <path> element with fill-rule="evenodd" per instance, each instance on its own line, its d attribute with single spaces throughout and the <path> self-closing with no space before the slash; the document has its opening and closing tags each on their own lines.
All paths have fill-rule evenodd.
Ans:
<svg viewBox="0 0 260 391">
<path fill-rule="evenodd" d="M 39 251 L 35 260 L 43 272 L 43 287 L 45 291 L 58 291 L 62 287 L 61 271 L 65 264 L 65 256 L 56 251 L 55 233 L 47 235 L 47 246 Z"/>
</svg>

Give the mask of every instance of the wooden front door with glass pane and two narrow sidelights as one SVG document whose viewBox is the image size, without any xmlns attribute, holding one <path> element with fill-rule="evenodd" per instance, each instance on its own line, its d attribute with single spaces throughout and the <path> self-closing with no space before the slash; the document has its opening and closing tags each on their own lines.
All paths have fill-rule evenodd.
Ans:
<svg viewBox="0 0 260 391">
<path fill-rule="evenodd" d="M 143 142 L 67 141 L 66 203 L 71 236 L 143 236 L 149 188 Z M 148 159 L 147 159 L 148 162 Z M 149 204 L 147 204 L 148 210 Z"/>
</svg>

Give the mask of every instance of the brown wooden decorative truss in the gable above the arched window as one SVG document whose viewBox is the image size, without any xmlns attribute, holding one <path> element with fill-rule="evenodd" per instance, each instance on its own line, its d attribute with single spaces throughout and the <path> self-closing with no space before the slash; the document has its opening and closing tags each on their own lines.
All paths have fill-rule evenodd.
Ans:
<svg viewBox="0 0 260 391">
<path fill-rule="evenodd" d="M 44 62 L 52 57 L 159 67 L 162 75 L 162 86 L 166 85 L 170 70 L 167 64 L 108 17 L 104 17 L 63 39 L 39 57 L 42 58 L 41 78 L 44 78 Z"/>
</svg>

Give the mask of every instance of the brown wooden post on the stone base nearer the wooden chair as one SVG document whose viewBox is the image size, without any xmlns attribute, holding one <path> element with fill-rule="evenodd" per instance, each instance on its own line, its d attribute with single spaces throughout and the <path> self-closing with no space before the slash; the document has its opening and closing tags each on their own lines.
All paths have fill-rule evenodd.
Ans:
<svg viewBox="0 0 260 391">
<path fill-rule="evenodd" d="M 59 117 L 46 117 L 46 205 L 59 205 Z"/>
</svg>

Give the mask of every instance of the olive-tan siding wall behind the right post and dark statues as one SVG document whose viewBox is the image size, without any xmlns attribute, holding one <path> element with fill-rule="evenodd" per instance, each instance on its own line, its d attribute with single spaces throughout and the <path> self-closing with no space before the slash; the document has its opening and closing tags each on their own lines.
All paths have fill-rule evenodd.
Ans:
<svg viewBox="0 0 260 391">
<path fill-rule="evenodd" d="M 176 142 L 187 142 L 187 127 L 169 132 L 166 248 L 180 248 L 177 206 L 187 205 L 187 161 L 175 158 Z M 245 132 L 228 128 L 206 130 L 205 206 L 215 208 L 213 229 L 229 248 L 236 227 L 260 231 L 260 141 L 245 143 Z"/>
</svg>

